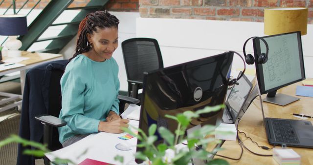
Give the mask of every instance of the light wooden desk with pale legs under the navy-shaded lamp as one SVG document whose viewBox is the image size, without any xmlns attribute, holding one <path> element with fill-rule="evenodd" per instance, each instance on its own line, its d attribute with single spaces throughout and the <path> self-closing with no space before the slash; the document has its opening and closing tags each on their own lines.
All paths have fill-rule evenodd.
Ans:
<svg viewBox="0 0 313 165">
<path fill-rule="evenodd" d="M 37 66 L 37 65 L 40 65 L 40 64 L 45 63 L 45 62 L 63 59 L 63 55 L 61 55 L 61 54 L 51 54 L 51 53 L 41 53 L 41 52 L 31 53 L 31 52 L 26 52 L 26 51 L 22 51 L 21 57 L 28 57 L 29 58 L 27 60 L 19 62 L 21 64 L 24 64 L 25 66 L 18 67 L 18 68 L 11 68 L 11 69 L 7 69 L 7 70 L 1 70 L 0 76 L 20 71 L 22 93 L 24 91 L 24 82 L 25 82 L 25 75 L 26 75 L 27 69 L 32 68 L 32 67 Z M 9 58 L 3 57 L 3 60 L 7 60 L 7 59 L 9 59 Z M 0 95 L 7 97 L 6 99 L 1 100 L 0 104 L 7 103 L 10 101 L 16 100 L 18 98 L 22 99 L 22 95 L 16 95 L 16 94 L 4 93 L 4 92 L 0 92 Z M 12 103 L 10 105 L 3 106 L 0 108 L 0 112 L 7 110 L 7 109 L 10 109 L 12 107 L 21 105 L 21 104 L 22 104 L 22 101 L 18 101 L 16 103 Z"/>
</svg>

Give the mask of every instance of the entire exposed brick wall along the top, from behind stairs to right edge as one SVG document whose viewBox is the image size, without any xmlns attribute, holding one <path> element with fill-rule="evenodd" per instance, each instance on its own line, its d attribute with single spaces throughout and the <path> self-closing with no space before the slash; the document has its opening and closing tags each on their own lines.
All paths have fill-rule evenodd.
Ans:
<svg viewBox="0 0 313 165">
<path fill-rule="evenodd" d="M 25 0 L 16 0 L 20 8 Z M 24 8 L 32 8 L 38 0 L 29 0 Z M 50 0 L 41 0 L 36 8 L 44 8 Z M 85 6 L 90 0 L 74 0 L 70 7 Z M 12 0 L 4 0 L 7 8 Z M 313 24 L 313 0 L 109 0 L 110 11 L 140 12 L 146 18 L 204 19 L 263 22 L 266 7 L 308 7 L 308 22 Z"/>
</svg>

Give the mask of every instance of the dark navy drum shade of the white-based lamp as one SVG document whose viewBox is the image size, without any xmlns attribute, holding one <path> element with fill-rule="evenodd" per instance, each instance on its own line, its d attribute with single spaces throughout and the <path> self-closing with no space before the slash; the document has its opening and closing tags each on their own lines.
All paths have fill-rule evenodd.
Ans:
<svg viewBox="0 0 313 165">
<path fill-rule="evenodd" d="M 0 15 L 0 35 L 19 36 L 27 33 L 26 16 Z"/>
</svg>

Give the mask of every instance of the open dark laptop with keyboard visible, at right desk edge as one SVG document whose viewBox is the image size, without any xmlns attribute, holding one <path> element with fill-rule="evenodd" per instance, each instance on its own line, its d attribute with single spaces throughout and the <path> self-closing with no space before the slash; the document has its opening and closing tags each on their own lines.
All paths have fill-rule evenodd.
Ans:
<svg viewBox="0 0 313 165">
<path fill-rule="evenodd" d="M 260 95 L 259 98 L 269 144 L 313 148 L 313 125 L 310 121 L 265 118 Z"/>
</svg>

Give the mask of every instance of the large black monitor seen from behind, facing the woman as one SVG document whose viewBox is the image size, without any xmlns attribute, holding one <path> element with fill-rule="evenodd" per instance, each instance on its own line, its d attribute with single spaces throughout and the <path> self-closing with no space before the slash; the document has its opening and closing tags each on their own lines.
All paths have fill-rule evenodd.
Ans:
<svg viewBox="0 0 313 165">
<path fill-rule="evenodd" d="M 184 111 L 197 111 L 205 106 L 223 104 L 232 60 L 233 53 L 225 52 L 145 72 L 139 128 L 148 134 L 149 126 L 156 124 L 157 127 L 163 126 L 174 133 L 178 124 L 166 118 L 166 114 L 176 116 Z M 223 109 L 202 114 L 193 119 L 188 128 L 199 124 L 220 124 L 222 116 Z M 158 139 L 155 144 L 163 143 L 157 131 L 156 136 Z M 137 147 L 137 151 L 141 149 Z"/>
</svg>

